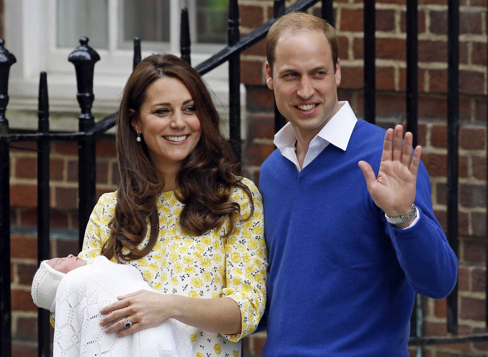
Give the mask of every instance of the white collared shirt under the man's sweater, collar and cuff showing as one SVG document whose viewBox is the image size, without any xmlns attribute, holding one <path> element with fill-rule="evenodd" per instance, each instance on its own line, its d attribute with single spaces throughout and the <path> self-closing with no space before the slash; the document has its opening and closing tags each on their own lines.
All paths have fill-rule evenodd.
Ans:
<svg viewBox="0 0 488 357">
<path fill-rule="evenodd" d="M 303 167 L 298 162 L 295 144 L 297 137 L 290 124 L 286 125 L 274 136 L 274 144 L 280 150 L 281 154 L 295 164 L 298 172 L 313 161 L 327 147 L 328 144 L 337 146 L 346 151 L 347 144 L 351 138 L 352 131 L 358 119 L 352 111 L 348 101 L 339 102 L 339 111 L 324 125 L 319 133 L 310 141 L 308 151 L 305 154 Z M 412 223 L 404 228 L 412 227 L 419 220 L 419 210 L 417 208 L 417 217 Z"/>
</svg>

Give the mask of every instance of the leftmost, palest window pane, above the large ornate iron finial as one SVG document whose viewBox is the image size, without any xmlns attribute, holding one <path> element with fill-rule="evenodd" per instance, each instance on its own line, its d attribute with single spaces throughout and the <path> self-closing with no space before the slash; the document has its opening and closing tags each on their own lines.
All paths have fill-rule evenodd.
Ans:
<svg viewBox="0 0 488 357">
<path fill-rule="evenodd" d="M 58 0 L 58 46 L 77 47 L 80 37 L 95 48 L 108 48 L 108 0 Z"/>
</svg>

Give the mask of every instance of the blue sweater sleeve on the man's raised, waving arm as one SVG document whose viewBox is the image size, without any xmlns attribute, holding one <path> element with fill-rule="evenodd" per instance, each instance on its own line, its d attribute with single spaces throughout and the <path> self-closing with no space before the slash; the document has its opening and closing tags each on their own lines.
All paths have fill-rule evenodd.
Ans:
<svg viewBox="0 0 488 357">
<path fill-rule="evenodd" d="M 458 261 L 434 216 L 430 180 L 422 163 L 417 176 L 415 205 L 420 217 L 407 229 L 395 228 L 382 215 L 386 234 L 391 238 L 410 286 L 428 298 L 445 298 L 456 283 Z"/>
</svg>

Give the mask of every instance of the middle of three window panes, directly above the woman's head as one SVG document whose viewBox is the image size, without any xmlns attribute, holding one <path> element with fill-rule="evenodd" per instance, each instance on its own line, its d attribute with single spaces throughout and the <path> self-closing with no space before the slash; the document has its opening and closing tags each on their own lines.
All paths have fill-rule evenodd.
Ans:
<svg viewBox="0 0 488 357">
<path fill-rule="evenodd" d="M 123 40 L 169 41 L 169 0 L 123 0 Z"/>
</svg>

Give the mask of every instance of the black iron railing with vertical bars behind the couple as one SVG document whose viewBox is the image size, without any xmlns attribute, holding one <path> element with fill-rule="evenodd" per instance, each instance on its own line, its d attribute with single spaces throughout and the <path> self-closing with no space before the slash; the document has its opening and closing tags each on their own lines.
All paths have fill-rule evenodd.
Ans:
<svg viewBox="0 0 488 357">
<path fill-rule="evenodd" d="M 240 133 L 240 54 L 262 40 L 276 18 L 291 11 L 304 11 L 319 0 L 299 0 L 285 7 L 284 0 L 274 1 L 274 17 L 240 38 L 239 8 L 237 0 L 229 1 L 228 46 L 200 63 L 195 69 L 205 74 L 222 63 L 229 62 L 229 126 L 230 142 L 234 153 L 241 158 Z M 334 24 L 333 1 L 322 1 L 322 17 Z M 375 4 L 364 1 L 364 118 L 375 121 Z M 417 0 L 407 1 L 407 130 L 413 133 L 417 142 Z M 191 63 L 188 13 L 182 11 L 181 54 Z M 447 155 L 447 238 L 457 255 L 458 251 L 458 134 L 459 134 L 459 0 L 448 1 L 448 155 Z M 141 61 L 141 40 L 134 39 L 134 68 Z M 78 94 L 81 108 L 79 131 L 75 133 L 49 132 L 49 104 L 46 73 L 41 73 L 39 85 L 39 129 L 36 134 L 9 134 L 5 109 L 8 103 L 8 74 L 15 57 L 3 47 L 0 39 L 0 356 L 11 356 L 11 300 L 10 300 L 10 198 L 9 198 L 9 145 L 15 141 L 36 141 L 38 143 L 38 260 L 49 258 L 49 143 L 51 141 L 77 141 L 79 143 L 79 222 L 80 246 L 84 225 L 95 205 L 95 140 L 115 125 L 116 114 L 95 123 L 91 114 L 93 96 L 93 68 L 100 59 L 96 51 L 88 46 L 88 39 L 81 38 L 81 45 L 69 56 L 75 65 Z M 276 108 L 276 107 L 275 107 Z M 275 109 L 275 130 L 285 124 L 285 118 Z M 488 114 L 487 114 L 488 124 Z M 487 148 L 488 150 L 488 148 Z M 488 157 L 488 152 L 487 152 Z M 487 165 L 488 167 L 488 165 Z M 488 176 L 488 168 L 487 168 Z M 488 195 L 488 189 L 487 189 Z M 488 202 L 488 197 L 487 197 Z M 488 215 L 487 215 L 488 219 Z M 488 226 L 488 221 L 487 221 Z M 488 250 L 488 244 L 487 244 Z M 488 253 L 488 251 L 487 251 Z M 488 256 L 488 254 L 487 254 Z M 488 269 L 487 269 L 488 278 Z M 488 289 L 488 284 L 487 284 Z M 488 294 L 487 294 L 488 295 Z M 452 337 L 422 337 L 421 304 L 416 298 L 412 314 L 412 329 L 409 344 L 422 346 L 461 342 L 487 341 L 488 334 L 455 336 L 457 334 L 457 285 L 447 298 L 447 331 Z M 487 299 L 488 311 L 488 299 Z M 417 318 L 419 317 L 419 318 Z M 488 325 L 488 315 L 486 317 Z M 48 313 L 39 310 L 39 356 L 49 356 Z"/>
</svg>

